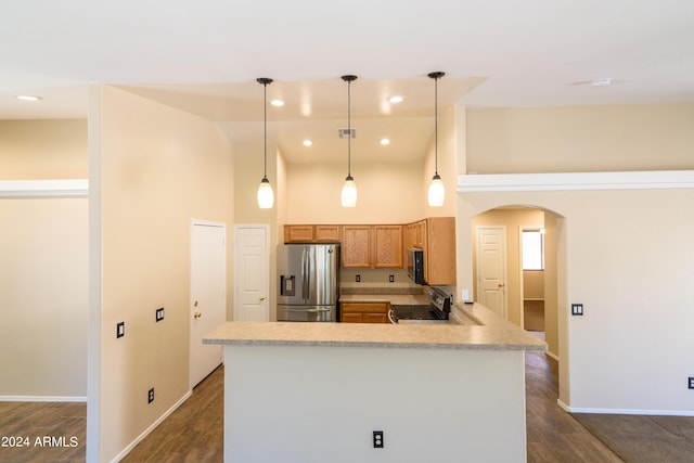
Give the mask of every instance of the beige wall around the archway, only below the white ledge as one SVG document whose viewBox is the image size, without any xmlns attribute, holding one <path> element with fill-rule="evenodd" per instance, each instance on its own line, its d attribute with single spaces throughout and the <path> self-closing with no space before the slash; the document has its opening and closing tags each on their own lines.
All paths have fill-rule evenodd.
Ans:
<svg viewBox="0 0 694 463">
<path fill-rule="evenodd" d="M 471 285 L 474 218 L 523 202 L 553 210 L 557 226 L 560 399 L 576 410 L 691 413 L 686 356 L 694 349 L 694 190 L 460 194 L 470 236 L 462 284 Z M 549 232 L 549 229 L 548 229 Z M 569 317 L 581 303 L 583 317 Z M 643 378 L 651 378 L 643 381 Z"/>
</svg>

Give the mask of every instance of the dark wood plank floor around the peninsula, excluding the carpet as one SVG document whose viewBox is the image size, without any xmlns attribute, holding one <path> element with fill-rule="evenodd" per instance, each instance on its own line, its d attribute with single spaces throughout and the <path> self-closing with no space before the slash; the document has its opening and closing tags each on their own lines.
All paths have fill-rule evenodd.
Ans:
<svg viewBox="0 0 694 463">
<path fill-rule="evenodd" d="M 621 462 L 557 404 L 557 364 L 544 353 L 526 355 L 527 441 L 530 463 Z M 134 462 L 221 462 L 223 455 L 223 368 L 121 460 Z M 0 436 L 76 436 L 75 448 L 0 448 L 0 462 L 85 461 L 82 403 L 0 402 Z"/>
</svg>

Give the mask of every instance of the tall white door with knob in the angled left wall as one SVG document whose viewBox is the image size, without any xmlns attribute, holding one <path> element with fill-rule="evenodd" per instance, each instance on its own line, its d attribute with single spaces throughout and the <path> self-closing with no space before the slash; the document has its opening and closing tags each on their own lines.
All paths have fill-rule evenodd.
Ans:
<svg viewBox="0 0 694 463">
<path fill-rule="evenodd" d="M 191 230 L 191 389 L 222 362 L 221 346 L 203 336 L 221 325 L 227 312 L 227 226 L 194 221 Z"/>
</svg>

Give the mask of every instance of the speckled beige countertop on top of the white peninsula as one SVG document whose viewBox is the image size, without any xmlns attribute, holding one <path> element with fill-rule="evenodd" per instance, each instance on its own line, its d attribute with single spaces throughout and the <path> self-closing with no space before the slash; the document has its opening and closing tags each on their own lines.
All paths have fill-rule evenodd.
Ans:
<svg viewBox="0 0 694 463">
<path fill-rule="evenodd" d="M 458 308 L 464 316 L 484 324 L 227 322 L 207 334 L 203 344 L 486 350 L 547 348 L 542 339 L 501 319 L 484 306 L 475 304 Z"/>
</svg>

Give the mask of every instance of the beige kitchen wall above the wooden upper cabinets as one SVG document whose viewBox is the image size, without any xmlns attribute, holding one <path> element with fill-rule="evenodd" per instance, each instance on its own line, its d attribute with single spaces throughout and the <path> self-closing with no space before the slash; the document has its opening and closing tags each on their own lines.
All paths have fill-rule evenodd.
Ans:
<svg viewBox="0 0 694 463">
<path fill-rule="evenodd" d="M 442 207 L 427 205 L 435 169 L 434 121 L 423 162 L 351 163 L 358 189 L 357 207 L 340 205 L 347 164 L 286 164 L 284 223 L 407 223 L 424 217 L 455 215 L 455 182 L 464 111 L 439 110 L 438 172 L 446 187 Z M 282 214 L 282 213 L 281 213 Z"/>
</svg>

